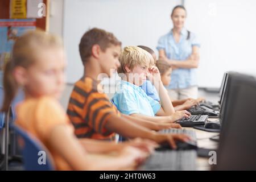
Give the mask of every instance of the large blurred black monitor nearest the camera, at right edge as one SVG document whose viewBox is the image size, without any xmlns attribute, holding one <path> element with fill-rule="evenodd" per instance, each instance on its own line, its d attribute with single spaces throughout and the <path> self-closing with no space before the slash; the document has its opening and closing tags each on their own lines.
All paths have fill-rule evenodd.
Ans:
<svg viewBox="0 0 256 182">
<path fill-rule="evenodd" d="M 256 170 L 256 80 L 229 72 L 217 170 Z"/>
</svg>

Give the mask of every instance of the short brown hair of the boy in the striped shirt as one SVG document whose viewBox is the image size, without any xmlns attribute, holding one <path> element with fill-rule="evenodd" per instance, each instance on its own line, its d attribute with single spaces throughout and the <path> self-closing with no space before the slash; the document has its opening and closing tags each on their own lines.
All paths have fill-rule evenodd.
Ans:
<svg viewBox="0 0 256 182">
<path fill-rule="evenodd" d="M 121 46 L 122 43 L 112 33 L 100 28 L 92 28 L 86 31 L 79 44 L 79 52 L 83 64 L 92 55 L 92 47 L 95 44 L 98 44 L 102 51 L 106 51 L 106 48 L 110 47 L 110 45 Z"/>
</svg>

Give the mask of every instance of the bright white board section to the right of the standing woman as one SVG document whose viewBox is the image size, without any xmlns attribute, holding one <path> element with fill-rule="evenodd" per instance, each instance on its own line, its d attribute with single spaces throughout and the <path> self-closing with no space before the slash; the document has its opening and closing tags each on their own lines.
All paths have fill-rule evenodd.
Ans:
<svg viewBox="0 0 256 182">
<path fill-rule="evenodd" d="M 225 71 L 256 75 L 256 1 L 185 1 L 186 27 L 201 42 L 199 86 L 219 87 Z"/>
</svg>

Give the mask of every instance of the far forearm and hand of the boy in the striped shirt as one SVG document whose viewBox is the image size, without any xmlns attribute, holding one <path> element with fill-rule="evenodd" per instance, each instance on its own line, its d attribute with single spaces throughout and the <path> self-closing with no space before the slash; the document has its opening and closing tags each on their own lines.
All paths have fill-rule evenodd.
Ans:
<svg viewBox="0 0 256 182">
<path fill-rule="evenodd" d="M 144 126 L 150 130 L 159 131 L 159 130 L 163 130 L 163 129 L 168 129 L 170 127 L 181 129 L 181 126 L 176 123 L 157 123 L 157 122 L 152 122 L 152 121 L 149 121 L 146 119 L 133 117 L 131 115 L 126 115 L 126 114 L 122 114 L 122 117 L 125 117 L 125 118 L 129 119 L 130 121 L 137 123 L 140 126 Z"/>
</svg>

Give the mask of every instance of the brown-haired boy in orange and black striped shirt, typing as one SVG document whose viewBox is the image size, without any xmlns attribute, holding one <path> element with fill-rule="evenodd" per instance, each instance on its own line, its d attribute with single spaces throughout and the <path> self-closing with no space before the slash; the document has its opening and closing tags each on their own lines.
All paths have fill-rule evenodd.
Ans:
<svg viewBox="0 0 256 182">
<path fill-rule="evenodd" d="M 168 142 L 172 148 L 176 148 L 175 140 L 189 140 L 183 134 L 160 134 L 152 131 L 180 127 L 177 124 L 154 123 L 121 115 L 108 96 L 101 92 L 98 75 L 105 73 L 110 77 L 111 71 L 120 66 L 118 58 L 121 42 L 113 34 L 93 28 L 82 36 L 79 51 L 84 65 L 84 76 L 75 83 L 67 111 L 77 137 L 111 140 L 118 133 L 127 138 L 140 137 L 157 143 Z M 177 118 L 170 116 L 166 119 L 171 121 Z"/>
</svg>

